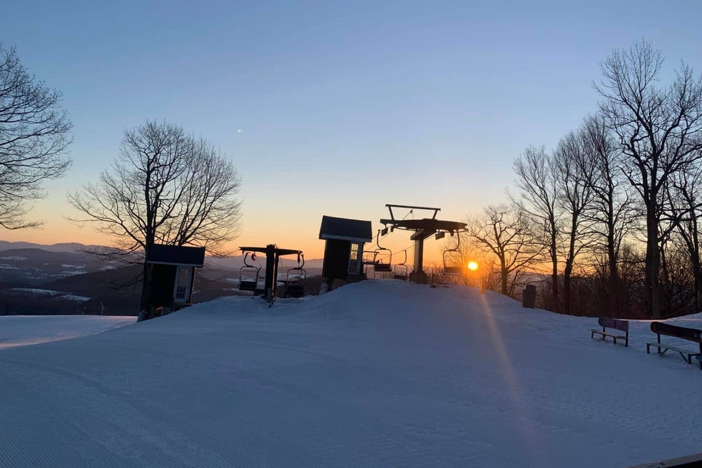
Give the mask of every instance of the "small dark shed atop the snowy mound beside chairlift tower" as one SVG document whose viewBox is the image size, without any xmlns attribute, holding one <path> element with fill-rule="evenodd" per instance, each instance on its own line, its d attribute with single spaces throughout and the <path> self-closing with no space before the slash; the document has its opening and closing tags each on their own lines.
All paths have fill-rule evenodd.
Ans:
<svg viewBox="0 0 702 468">
<path fill-rule="evenodd" d="M 322 216 L 319 239 L 326 241 L 322 276 L 327 282 L 363 278 L 363 246 L 373 240 L 370 221 Z"/>
</svg>

